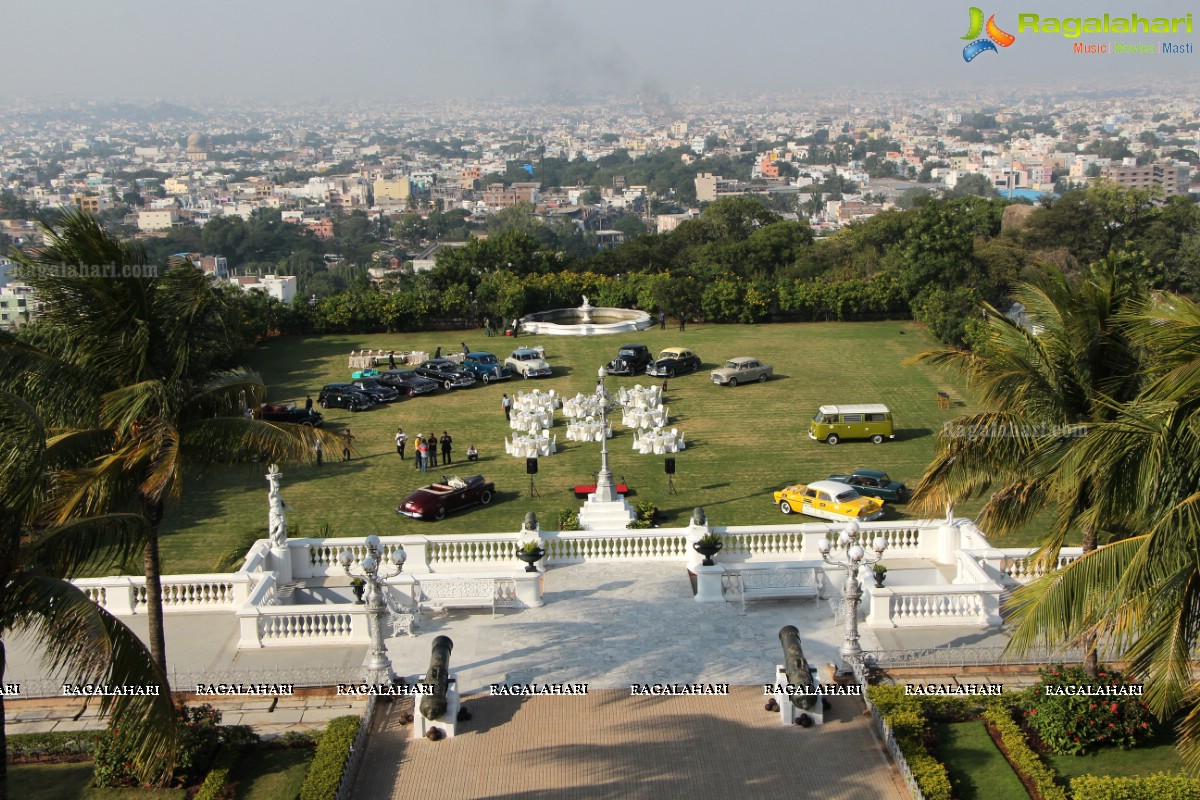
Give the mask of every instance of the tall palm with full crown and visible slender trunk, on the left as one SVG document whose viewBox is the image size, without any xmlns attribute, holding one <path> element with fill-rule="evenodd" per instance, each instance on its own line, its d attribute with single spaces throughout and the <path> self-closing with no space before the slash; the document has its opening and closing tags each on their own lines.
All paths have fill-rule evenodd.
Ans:
<svg viewBox="0 0 1200 800">
<path fill-rule="evenodd" d="M 109 236 L 88 213 L 68 215 L 44 229 L 47 246 L 16 252 L 13 260 L 47 311 L 35 345 L 0 337 L 0 384 L 36 398 L 38 408 L 95 445 L 95 457 L 58 476 L 52 519 L 110 511 L 139 515 L 146 524 L 149 644 L 166 673 L 158 530 L 170 499 L 181 494 L 185 467 L 203 469 L 245 453 L 295 462 L 332 434 L 244 419 L 266 398 L 248 371 L 214 371 L 227 360 L 222 296 L 190 264 L 154 277 L 73 277 L 64 267 L 113 265 L 137 272 L 144 251 Z M 143 270 L 144 272 L 144 270 Z M 64 375 L 72 377 L 64 380 Z"/>
</svg>

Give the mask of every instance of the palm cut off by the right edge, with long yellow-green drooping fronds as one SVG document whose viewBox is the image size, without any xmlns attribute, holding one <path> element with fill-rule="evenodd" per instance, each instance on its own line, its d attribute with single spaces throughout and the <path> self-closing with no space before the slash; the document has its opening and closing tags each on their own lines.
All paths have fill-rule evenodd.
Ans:
<svg viewBox="0 0 1200 800">
<path fill-rule="evenodd" d="M 1105 487 L 1097 518 L 1139 531 L 1016 593 L 1014 644 L 1103 636 L 1160 718 L 1188 708 L 1180 748 L 1200 770 L 1200 306 L 1163 295 L 1123 315 L 1144 353 L 1136 398 L 1088 429 L 1063 469 Z"/>
</svg>

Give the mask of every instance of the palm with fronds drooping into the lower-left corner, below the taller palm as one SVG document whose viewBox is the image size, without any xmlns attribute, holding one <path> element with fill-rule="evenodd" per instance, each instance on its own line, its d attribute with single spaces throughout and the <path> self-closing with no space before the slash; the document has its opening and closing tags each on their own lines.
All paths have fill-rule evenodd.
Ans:
<svg viewBox="0 0 1200 800">
<path fill-rule="evenodd" d="M 156 697 L 102 697 L 100 708 L 133 736 L 140 772 L 170 775 L 178 745 L 175 710 L 163 672 L 137 634 L 67 581 L 90 565 L 134 552 L 145 522 L 134 515 L 38 524 L 48 469 L 70 458 L 71 443 L 46 433 L 37 413 L 0 392 L 0 682 L 4 637 L 32 637 L 53 675 L 80 682 L 158 686 Z M 8 796 L 4 696 L 0 693 L 0 800 Z"/>
</svg>

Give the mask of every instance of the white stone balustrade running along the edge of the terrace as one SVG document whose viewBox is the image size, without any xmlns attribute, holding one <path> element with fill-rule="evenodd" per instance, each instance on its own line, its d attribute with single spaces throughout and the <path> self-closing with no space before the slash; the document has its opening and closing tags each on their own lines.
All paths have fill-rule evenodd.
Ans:
<svg viewBox="0 0 1200 800">
<path fill-rule="evenodd" d="M 737 569 L 764 563 L 805 561 L 821 564 L 817 545 L 845 529 L 838 523 L 782 525 L 712 525 L 703 522 L 684 528 L 635 530 L 539 531 L 546 555 L 545 570 L 588 561 L 674 561 L 692 566 L 691 541 L 700 533 L 721 536 L 719 564 Z M 1014 585 L 1028 583 L 1079 558 L 1078 548 L 1062 549 L 1051 564 L 1033 559 L 1021 548 L 998 549 L 970 521 L 953 525 L 944 519 L 872 522 L 859 525 L 859 541 L 883 537 L 888 557 L 928 561 L 944 570 L 954 566 L 953 582 L 930 585 L 869 588 L 870 625 L 882 627 L 928 625 L 1000 625 L 1000 599 Z M 541 603 L 541 581 L 517 572 L 520 533 L 408 535 L 382 537 L 385 569 L 397 553 L 407 557 L 404 576 L 450 578 L 518 576 L 521 607 Z M 949 537 L 949 541 L 948 541 Z M 948 543 L 958 545 L 947 563 Z M 346 579 L 338 555 L 349 551 L 353 561 L 366 555 L 361 537 L 290 539 L 271 551 L 265 540 L 246 554 L 241 570 L 224 575 L 178 575 L 162 578 L 163 610 L 180 613 L 230 613 L 239 620 L 239 646 L 265 648 L 296 644 L 344 645 L 367 642 L 365 607 L 353 603 L 280 603 L 278 559 L 287 559 L 292 581 Z M 394 567 L 392 567 L 394 569 Z M 835 576 L 833 567 L 827 570 Z M 407 582 L 406 579 L 402 579 Z M 391 582 L 390 582 L 391 583 Z M 145 578 L 114 576 L 76 581 L 74 584 L 102 608 L 118 615 L 145 610 Z M 400 589 L 400 587 L 396 587 Z"/>
</svg>

